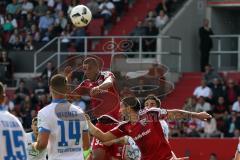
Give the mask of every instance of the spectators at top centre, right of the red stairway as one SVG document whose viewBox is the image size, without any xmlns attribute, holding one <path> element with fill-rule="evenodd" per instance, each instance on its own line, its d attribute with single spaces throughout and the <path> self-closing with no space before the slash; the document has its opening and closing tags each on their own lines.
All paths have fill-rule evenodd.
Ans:
<svg viewBox="0 0 240 160">
<path fill-rule="evenodd" d="M 157 36 L 184 2 L 183 0 L 161 1 L 155 10 L 148 12 L 144 21 L 138 21 L 137 27 L 130 35 Z M 139 39 L 133 39 L 132 41 L 132 51 L 139 51 Z M 155 52 L 156 39 L 144 38 L 142 41 L 142 50 L 145 52 Z M 145 55 L 145 57 L 153 57 L 153 55 Z"/>
</svg>

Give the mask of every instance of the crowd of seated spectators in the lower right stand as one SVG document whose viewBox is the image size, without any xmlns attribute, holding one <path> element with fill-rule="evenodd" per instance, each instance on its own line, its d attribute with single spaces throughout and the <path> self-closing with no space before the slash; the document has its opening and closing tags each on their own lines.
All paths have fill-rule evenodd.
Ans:
<svg viewBox="0 0 240 160">
<path fill-rule="evenodd" d="M 184 109 L 206 111 L 213 115 L 207 122 L 170 122 L 173 137 L 239 137 L 240 85 L 218 74 L 211 65 L 205 66 L 201 84 L 187 98 Z"/>
</svg>

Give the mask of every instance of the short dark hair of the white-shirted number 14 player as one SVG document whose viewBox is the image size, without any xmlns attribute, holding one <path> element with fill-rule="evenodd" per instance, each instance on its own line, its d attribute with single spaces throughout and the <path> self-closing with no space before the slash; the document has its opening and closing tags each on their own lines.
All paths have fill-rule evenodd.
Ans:
<svg viewBox="0 0 240 160">
<path fill-rule="evenodd" d="M 67 78 L 62 74 L 54 75 L 50 80 L 53 92 L 65 93 L 67 91 Z"/>
</svg>

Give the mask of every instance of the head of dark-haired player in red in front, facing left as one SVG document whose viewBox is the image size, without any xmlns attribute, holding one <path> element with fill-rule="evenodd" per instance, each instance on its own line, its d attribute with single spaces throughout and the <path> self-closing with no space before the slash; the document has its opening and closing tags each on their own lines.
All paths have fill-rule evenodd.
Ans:
<svg viewBox="0 0 240 160">
<path fill-rule="evenodd" d="M 126 97 L 121 100 L 120 112 L 123 117 L 129 117 L 130 114 L 138 113 L 141 110 L 141 102 L 136 97 Z"/>
</svg>

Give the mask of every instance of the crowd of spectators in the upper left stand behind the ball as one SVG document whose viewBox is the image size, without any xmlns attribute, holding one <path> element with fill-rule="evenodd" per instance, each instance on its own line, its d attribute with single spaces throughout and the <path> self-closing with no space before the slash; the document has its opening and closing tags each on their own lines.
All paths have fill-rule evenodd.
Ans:
<svg viewBox="0 0 240 160">
<path fill-rule="evenodd" d="M 86 29 L 74 28 L 68 16 L 80 3 L 90 8 L 94 18 L 103 18 L 109 29 L 133 0 L 2 0 L 0 49 L 32 51 L 56 36 L 86 36 Z"/>
</svg>

